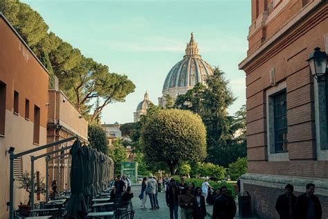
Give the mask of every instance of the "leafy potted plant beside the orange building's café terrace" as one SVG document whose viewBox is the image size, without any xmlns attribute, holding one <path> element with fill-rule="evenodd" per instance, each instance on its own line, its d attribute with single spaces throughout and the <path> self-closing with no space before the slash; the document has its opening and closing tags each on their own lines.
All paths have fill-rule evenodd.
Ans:
<svg viewBox="0 0 328 219">
<path fill-rule="evenodd" d="M 37 183 L 37 177 L 35 177 L 35 174 L 33 176 L 34 179 L 34 193 L 46 193 L 46 184 L 44 184 L 44 177 L 39 178 L 39 183 Z M 30 173 L 28 171 L 25 171 L 21 177 L 17 177 L 17 181 L 19 182 L 19 186 L 17 186 L 18 189 L 24 189 L 28 192 L 28 204 L 23 204 L 22 202 L 18 206 L 21 211 L 24 211 L 29 214 L 31 206 L 30 206 L 30 195 L 31 195 L 31 180 L 30 180 Z"/>
</svg>

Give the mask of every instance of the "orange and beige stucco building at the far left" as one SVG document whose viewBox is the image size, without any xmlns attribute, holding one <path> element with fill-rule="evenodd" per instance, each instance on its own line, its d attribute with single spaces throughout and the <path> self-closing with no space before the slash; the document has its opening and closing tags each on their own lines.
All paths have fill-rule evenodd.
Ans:
<svg viewBox="0 0 328 219">
<path fill-rule="evenodd" d="M 22 152 L 46 144 L 48 116 L 48 72 L 9 21 L 0 13 L 0 218 L 8 218 L 10 146 Z M 39 151 L 33 155 L 46 152 Z M 30 157 L 18 167 L 30 171 Z M 35 171 L 45 176 L 44 159 L 35 162 Z M 15 171 L 21 175 L 21 171 Z M 14 189 L 14 207 L 28 201 L 28 193 Z M 36 200 L 36 198 L 35 198 Z"/>
</svg>

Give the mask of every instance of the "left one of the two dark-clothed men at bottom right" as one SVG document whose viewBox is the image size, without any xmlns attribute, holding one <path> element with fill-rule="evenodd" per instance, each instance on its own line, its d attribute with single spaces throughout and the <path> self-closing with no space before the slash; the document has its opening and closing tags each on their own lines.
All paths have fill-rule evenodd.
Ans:
<svg viewBox="0 0 328 219">
<path fill-rule="evenodd" d="M 284 187 L 285 193 L 279 195 L 275 203 L 275 209 L 279 213 L 280 219 L 294 219 L 296 207 L 296 195 L 293 194 L 294 186 L 287 184 Z"/>
</svg>

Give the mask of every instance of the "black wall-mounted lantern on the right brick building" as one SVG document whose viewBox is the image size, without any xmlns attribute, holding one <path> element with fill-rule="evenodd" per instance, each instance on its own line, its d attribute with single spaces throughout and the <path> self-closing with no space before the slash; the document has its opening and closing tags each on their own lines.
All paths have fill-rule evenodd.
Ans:
<svg viewBox="0 0 328 219">
<path fill-rule="evenodd" d="M 314 49 L 314 52 L 311 53 L 309 59 L 309 66 L 311 69 L 312 76 L 316 78 L 318 82 L 323 81 L 322 78 L 325 76 L 327 69 L 327 54 L 320 51 L 319 47 Z"/>
</svg>

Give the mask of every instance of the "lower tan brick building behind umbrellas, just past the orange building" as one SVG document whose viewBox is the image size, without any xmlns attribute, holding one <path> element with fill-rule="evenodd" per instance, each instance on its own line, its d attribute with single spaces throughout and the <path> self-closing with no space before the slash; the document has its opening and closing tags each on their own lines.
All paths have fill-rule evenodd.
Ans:
<svg viewBox="0 0 328 219">
<path fill-rule="evenodd" d="M 57 81 L 57 80 L 56 80 Z M 88 122 L 80 114 L 65 96 L 58 89 L 49 89 L 48 91 L 48 123 L 47 123 L 47 143 L 60 141 L 73 136 L 78 136 L 80 141 L 88 143 Z M 73 140 L 74 141 L 74 140 Z M 62 147 L 73 145 L 73 141 L 63 143 L 62 145 L 48 148 L 48 152 L 60 149 Z M 66 150 L 65 152 L 69 152 Z M 59 155 L 59 154 L 58 154 Z M 54 157 L 55 155 L 53 155 Z M 49 161 L 48 188 L 51 188 L 51 182 L 57 181 L 57 191 L 69 189 L 71 159 L 53 159 Z"/>
</svg>

